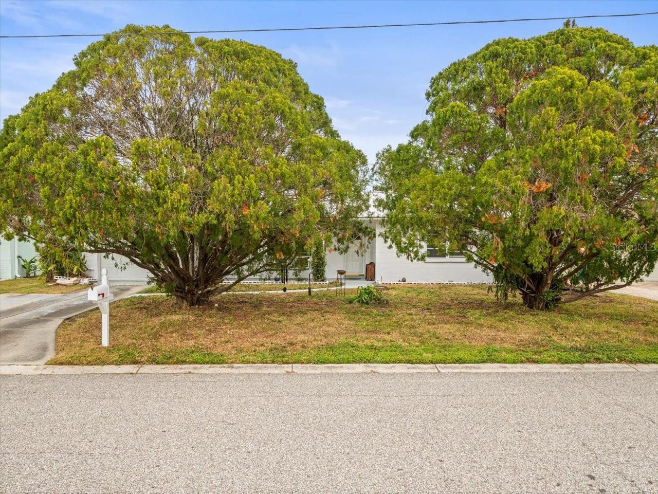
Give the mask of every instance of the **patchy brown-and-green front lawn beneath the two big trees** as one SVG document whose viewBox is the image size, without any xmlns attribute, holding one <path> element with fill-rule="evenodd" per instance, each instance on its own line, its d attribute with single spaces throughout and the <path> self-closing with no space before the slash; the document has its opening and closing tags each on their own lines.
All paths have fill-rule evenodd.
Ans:
<svg viewBox="0 0 658 494">
<path fill-rule="evenodd" d="M 334 291 L 227 294 L 189 309 L 172 297 L 65 321 L 49 364 L 658 362 L 658 302 L 605 294 L 558 307 L 495 301 L 482 285 L 393 285 L 382 305 Z"/>
</svg>

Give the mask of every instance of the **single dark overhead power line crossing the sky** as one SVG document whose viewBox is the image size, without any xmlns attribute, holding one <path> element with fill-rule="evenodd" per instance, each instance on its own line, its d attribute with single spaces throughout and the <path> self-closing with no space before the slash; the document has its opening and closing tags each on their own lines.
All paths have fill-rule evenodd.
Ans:
<svg viewBox="0 0 658 494">
<path fill-rule="evenodd" d="M 14 34 L 2 35 L 0 38 L 37 38 L 37 37 L 101 37 L 101 36 L 158 36 L 162 34 L 230 34 L 230 33 L 264 33 L 282 31 L 327 31 L 337 29 L 374 29 L 374 28 L 413 28 L 418 26 L 455 26 L 457 24 L 497 24 L 501 22 L 529 22 L 535 20 L 567 20 L 567 19 L 594 19 L 611 17 L 638 17 L 656 15 L 658 12 L 638 12 L 634 14 L 601 14 L 580 15 L 567 17 L 532 17 L 518 19 L 496 20 L 450 20 L 445 22 L 413 22 L 410 24 L 365 24 L 361 26 L 317 26 L 315 28 L 263 28 L 263 29 L 224 29 L 209 31 L 157 31 L 136 33 L 105 33 L 105 34 Z"/>
</svg>

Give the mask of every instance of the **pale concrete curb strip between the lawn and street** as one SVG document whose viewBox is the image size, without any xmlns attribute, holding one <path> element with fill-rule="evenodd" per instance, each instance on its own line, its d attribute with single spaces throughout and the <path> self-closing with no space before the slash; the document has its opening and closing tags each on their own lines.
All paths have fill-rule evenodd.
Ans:
<svg viewBox="0 0 658 494">
<path fill-rule="evenodd" d="M 226 364 L 0 365 L 2 376 L 64 374 L 412 374 L 482 372 L 658 372 L 658 364 Z"/>
</svg>

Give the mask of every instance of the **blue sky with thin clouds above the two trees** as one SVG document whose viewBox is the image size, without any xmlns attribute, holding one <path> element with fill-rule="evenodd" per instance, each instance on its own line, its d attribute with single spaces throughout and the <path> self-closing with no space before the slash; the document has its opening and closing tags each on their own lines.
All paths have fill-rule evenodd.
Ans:
<svg viewBox="0 0 658 494">
<path fill-rule="evenodd" d="M 0 1 L 0 32 L 109 32 L 125 24 L 169 24 L 180 30 L 277 28 L 440 22 L 515 17 L 658 11 L 658 1 L 501 2 L 232 2 Z M 636 45 L 658 44 L 658 16 L 579 21 Z M 293 59 L 311 90 L 324 97 L 343 137 L 367 153 L 405 141 L 424 117 L 430 78 L 498 37 L 530 37 L 561 21 L 374 30 L 236 34 Z M 30 95 L 72 68 L 72 57 L 95 38 L 3 39 L 0 117 L 20 111 Z"/>
</svg>

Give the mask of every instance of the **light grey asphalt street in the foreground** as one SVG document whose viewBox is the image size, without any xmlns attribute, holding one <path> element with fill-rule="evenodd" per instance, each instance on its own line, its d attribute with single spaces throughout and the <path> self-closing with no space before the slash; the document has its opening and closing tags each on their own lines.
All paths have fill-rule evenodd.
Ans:
<svg viewBox="0 0 658 494">
<path fill-rule="evenodd" d="M 3 493 L 654 493 L 658 373 L 2 376 Z"/>
</svg>

